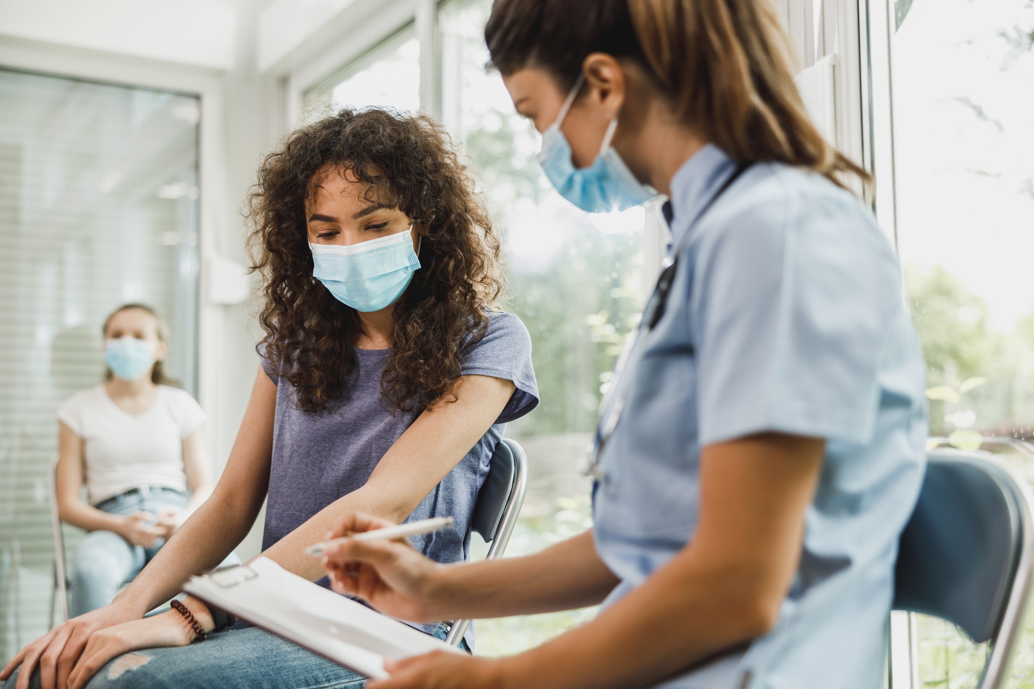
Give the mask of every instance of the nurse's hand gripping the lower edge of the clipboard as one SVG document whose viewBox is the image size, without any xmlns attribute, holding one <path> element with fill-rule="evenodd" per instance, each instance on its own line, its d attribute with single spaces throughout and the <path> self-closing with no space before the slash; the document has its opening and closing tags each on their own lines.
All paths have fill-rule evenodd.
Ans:
<svg viewBox="0 0 1034 689">
<path fill-rule="evenodd" d="M 445 651 L 386 660 L 385 669 L 391 677 L 370 682 L 367 689 L 501 689 L 507 678 L 504 661 Z"/>
</svg>

